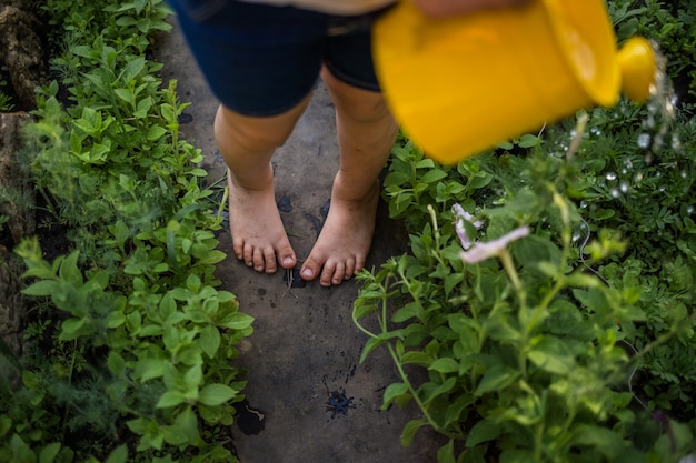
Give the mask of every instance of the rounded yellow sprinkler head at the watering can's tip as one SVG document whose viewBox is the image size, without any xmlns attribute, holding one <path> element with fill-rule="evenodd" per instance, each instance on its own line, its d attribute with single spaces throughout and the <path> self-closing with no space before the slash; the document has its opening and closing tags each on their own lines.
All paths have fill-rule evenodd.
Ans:
<svg viewBox="0 0 696 463">
<path fill-rule="evenodd" d="M 628 39 L 619 50 L 617 60 L 623 93 L 638 103 L 647 100 L 657 69 L 650 42 L 642 37 Z"/>
</svg>

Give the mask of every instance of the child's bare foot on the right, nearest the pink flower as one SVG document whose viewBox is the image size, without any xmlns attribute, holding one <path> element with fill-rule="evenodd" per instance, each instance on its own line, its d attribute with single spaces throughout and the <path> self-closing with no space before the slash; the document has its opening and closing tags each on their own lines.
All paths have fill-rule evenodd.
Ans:
<svg viewBox="0 0 696 463">
<path fill-rule="evenodd" d="M 322 286 L 340 284 L 365 268 L 375 232 L 379 182 L 361 200 L 341 199 L 346 195 L 339 182 L 337 177 L 329 214 L 300 271 L 304 280 L 320 274 Z"/>
</svg>

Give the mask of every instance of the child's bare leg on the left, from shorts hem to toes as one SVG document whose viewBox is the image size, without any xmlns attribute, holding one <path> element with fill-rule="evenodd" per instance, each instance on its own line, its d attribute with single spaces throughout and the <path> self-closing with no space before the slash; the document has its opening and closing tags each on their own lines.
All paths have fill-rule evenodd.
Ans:
<svg viewBox="0 0 696 463">
<path fill-rule="evenodd" d="M 237 259 L 258 272 L 274 273 L 297 263 L 276 205 L 270 159 L 292 132 L 309 102 L 269 118 L 250 118 L 218 109 L 215 137 L 228 165 L 229 214 Z"/>
</svg>

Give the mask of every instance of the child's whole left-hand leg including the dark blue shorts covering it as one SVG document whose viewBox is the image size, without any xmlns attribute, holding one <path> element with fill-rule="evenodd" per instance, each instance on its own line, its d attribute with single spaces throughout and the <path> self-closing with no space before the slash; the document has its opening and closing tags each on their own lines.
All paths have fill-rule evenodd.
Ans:
<svg viewBox="0 0 696 463">
<path fill-rule="evenodd" d="M 297 259 L 276 207 L 270 159 L 319 76 L 326 18 L 240 1 L 169 2 L 221 102 L 213 129 L 229 168 L 233 252 L 259 272 L 291 268 Z"/>
</svg>

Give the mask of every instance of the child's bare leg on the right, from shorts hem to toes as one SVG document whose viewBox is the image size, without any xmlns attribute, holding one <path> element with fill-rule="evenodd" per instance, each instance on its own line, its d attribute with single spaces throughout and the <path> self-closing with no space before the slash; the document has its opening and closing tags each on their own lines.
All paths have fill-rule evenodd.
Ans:
<svg viewBox="0 0 696 463">
<path fill-rule="evenodd" d="M 300 274 L 305 280 L 320 275 L 321 285 L 330 286 L 365 266 L 379 200 L 377 178 L 398 128 L 380 93 L 348 85 L 326 68 L 321 78 L 336 105 L 340 169 L 326 223 Z"/>
</svg>

